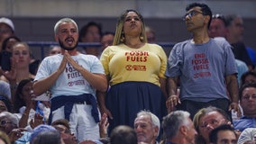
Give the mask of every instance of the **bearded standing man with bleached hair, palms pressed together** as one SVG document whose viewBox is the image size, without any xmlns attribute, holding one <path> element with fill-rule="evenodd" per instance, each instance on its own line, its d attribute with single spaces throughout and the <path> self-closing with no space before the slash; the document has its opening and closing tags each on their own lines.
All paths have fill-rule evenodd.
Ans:
<svg viewBox="0 0 256 144">
<path fill-rule="evenodd" d="M 50 90 L 49 123 L 67 119 L 79 142 L 99 139 L 96 90 L 107 89 L 104 69 L 95 56 L 78 53 L 78 25 L 72 19 L 60 19 L 54 32 L 61 54 L 42 60 L 33 92 L 40 95 Z"/>
</svg>

